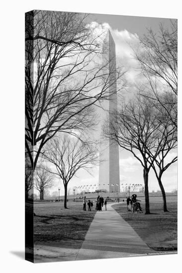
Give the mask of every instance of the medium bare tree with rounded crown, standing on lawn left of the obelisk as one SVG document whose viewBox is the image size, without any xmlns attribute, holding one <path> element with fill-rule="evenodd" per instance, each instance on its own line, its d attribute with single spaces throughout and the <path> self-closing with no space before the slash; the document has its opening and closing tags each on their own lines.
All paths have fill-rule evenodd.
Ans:
<svg viewBox="0 0 182 273">
<path fill-rule="evenodd" d="M 42 156 L 55 166 L 55 171 L 50 172 L 63 181 L 64 207 L 67 208 L 68 183 L 81 168 L 89 171 L 92 165 L 96 164 L 97 149 L 91 142 L 83 142 L 76 137 L 64 135 L 60 137 L 60 141 L 58 138 L 50 140 Z"/>
</svg>

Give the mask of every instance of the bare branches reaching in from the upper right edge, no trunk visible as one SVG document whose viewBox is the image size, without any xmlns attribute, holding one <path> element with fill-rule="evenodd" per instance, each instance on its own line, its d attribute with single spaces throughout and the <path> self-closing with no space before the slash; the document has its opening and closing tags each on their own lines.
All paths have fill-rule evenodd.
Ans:
<svg viewBox="0 0 182 273">
<path fill-rule="evenodd" d="M 159 33 L 149 29 L 147 35 L 140 39 L 140 47 L 138 51 L 135 51 L 135 57 L 148 81 L 148 96 L 156 105 L 165 109 L 172 124 L 177 128 L 177 20 L 171 20 L 170 30 L 165 29 L 162 24 Z"/>
</svg>

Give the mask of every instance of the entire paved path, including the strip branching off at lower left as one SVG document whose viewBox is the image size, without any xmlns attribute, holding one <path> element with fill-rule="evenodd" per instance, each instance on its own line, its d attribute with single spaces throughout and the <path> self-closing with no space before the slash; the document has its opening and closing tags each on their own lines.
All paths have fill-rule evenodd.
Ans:
<svg viewBox="0 0 182 273">
<path fill-rule="evenodd" d="M 122 258 L 153 253 L 111 205 L 107 205 L 107 211 L 103 209 L 95 213 L 81 249 L 36 245 L 35 263 Z"/>
</svg>

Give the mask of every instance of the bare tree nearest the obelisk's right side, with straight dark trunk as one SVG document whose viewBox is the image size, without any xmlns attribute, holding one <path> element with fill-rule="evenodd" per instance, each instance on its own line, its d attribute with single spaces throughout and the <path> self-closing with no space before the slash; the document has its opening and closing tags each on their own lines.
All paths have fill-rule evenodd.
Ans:
<svg viewBox="0 0 182 273">
<path fill-rule="evenodd" d="M 156 134 L 158 134 L 159 127 L 153 103 L 146 97 L 137 96 L 123 104 L 118 112 L 113 113 L 112 120 L 103 128 L 105 136 L 130 151 L 141 163 L 145 185 L 146 214 L 150 214 L 148 177 L 159 153 L 159 147 L 156 147 Z M 148 155 L 148 150 L 153 151 L 153 158 Z"/>
</svg>

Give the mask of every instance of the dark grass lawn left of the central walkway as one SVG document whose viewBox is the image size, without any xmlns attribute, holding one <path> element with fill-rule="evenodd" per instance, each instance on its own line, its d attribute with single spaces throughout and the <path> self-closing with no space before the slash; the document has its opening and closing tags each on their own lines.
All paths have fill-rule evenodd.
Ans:
<svg viewBox="0 0 182 273">
<path fill-rule="evenodd" d="M 69 209 L 63 203 L 35 202 L 34 242 L 65 248 L 81 248 L 91 221 L 92 211 L 83 211 L 82 202 L 68 202 Z"/>
</svg>

